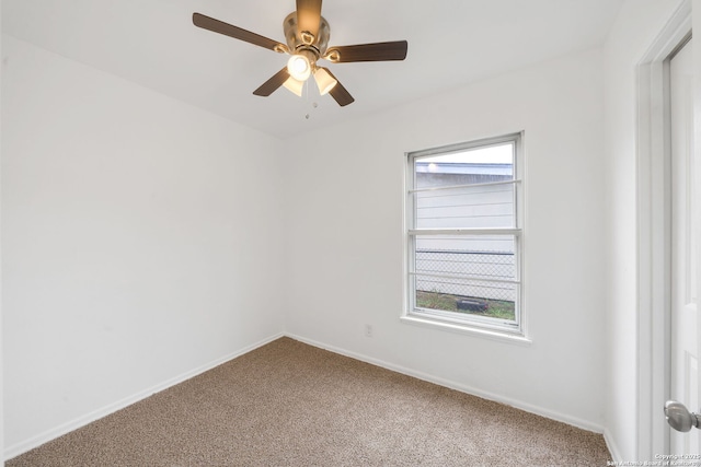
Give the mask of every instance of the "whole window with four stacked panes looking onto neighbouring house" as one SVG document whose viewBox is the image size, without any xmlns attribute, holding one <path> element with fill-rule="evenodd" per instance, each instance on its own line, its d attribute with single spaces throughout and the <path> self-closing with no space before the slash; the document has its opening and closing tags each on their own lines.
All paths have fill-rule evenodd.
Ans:
<svg viewBox="0 0 701 467">
<path fill-rule="evenodd" d="M 522 334 L 520 140 L 407 154 L 406 317 Z"/>
</svg>

